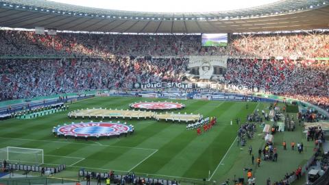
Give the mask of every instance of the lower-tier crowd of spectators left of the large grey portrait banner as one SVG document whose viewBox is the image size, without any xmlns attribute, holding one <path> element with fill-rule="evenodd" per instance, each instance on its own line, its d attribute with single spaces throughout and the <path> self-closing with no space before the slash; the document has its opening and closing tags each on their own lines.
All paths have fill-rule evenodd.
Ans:
<svg viewBox="0 0 329 185">
<path fill-rule="evenodd" d="M 188 60 L 113 58 L 1 60 L 0 99 L 81 90 L 132 88 L 134 82 L 180 82 Z"/>
</svg>

